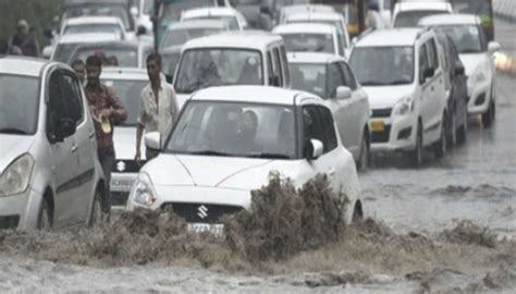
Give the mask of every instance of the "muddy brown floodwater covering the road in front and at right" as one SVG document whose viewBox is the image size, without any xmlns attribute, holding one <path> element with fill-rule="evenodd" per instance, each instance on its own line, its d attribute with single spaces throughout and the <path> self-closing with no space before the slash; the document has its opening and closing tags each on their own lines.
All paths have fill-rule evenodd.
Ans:
<svg viewBox="0 0 516 294">
<path fill-rule="evenodd" d="M 516 24 L 495 25 L 516 57 Z M 341 241 L 253 261 L 183 236 L 146 259 L 139 252 L 174 237 L 0 232 L 0 293 L 516 293 L 515 149 L 516 76 L 499 73 L 494 125 L 472 118 L 467 143 L 438 161 L 428 152 L 420 170 L 376 159 L 359 175 L 372 220 Z"/>
</svg>

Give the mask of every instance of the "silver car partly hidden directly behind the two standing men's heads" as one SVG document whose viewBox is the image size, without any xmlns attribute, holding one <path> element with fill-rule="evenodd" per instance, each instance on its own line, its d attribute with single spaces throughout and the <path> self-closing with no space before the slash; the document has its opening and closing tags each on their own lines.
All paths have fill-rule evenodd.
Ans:
<svg viewBox="0 0 516 294">
<path fill-rule="evenodd" d="M 78 46 L 67 60 L 72 63 L 76 59 L 86 61 L 89 56 L 102 54 L 106 58 L 114 57 L 120 68 L 146 68 L 147 57 L 153 52 L 153 47 L 146 42 L 135 41 L 105 41 Z"/>
</svg>

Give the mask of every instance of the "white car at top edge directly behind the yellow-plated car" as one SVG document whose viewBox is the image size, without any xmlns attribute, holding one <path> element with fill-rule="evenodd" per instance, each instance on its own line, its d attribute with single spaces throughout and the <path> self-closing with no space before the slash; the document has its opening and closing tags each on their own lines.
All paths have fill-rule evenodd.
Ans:
<svg viewBox="0 0 516 294">
<path fill-rule="evenodd" d="M 415 27 L 422 17 L 442 13 L 453 13 L 450 1 L 398 0 L 394 4 L 392 26 Z"/>
</svg>

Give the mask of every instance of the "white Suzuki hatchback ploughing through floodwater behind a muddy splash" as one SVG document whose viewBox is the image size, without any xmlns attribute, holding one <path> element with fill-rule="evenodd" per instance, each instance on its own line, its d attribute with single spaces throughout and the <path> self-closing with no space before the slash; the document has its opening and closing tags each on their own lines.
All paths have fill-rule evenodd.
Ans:
<svg viewBox="0 0 516 294">
<path fill-rule="evenodd" d="M 168 138 L 145 136 L 160 155 L 147 162 L 131 191 L 127 209 L 172 208 L 195 232 L 221 233 L 220 218 L 248 209 L 250 191 L 271 172 L 300 187 L 317 174 L 347 195 L 348 222 L 363 217 L 353 156 L 341 143 L 321 98 L 259 86 L 199 90 L 184 106 Z"/>
</svg>

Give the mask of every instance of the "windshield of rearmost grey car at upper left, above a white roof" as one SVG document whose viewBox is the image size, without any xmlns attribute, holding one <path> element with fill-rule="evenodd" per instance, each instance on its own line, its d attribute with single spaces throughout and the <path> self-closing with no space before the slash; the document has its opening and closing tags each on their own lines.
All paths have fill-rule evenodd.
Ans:
<svg viewBox="0 0 516 294">
<path fill-rule="evenodd" d="M 128 11 L 121 5 L 107 5 L 107 4 L 88 4 L 81 7 L 70 7 L 63 14 L 63 19 L 73 19 L 81 16 L 116 16 L 125 26 L 125 29 L 131 30 L 131 23 Z"/>
</svg>

